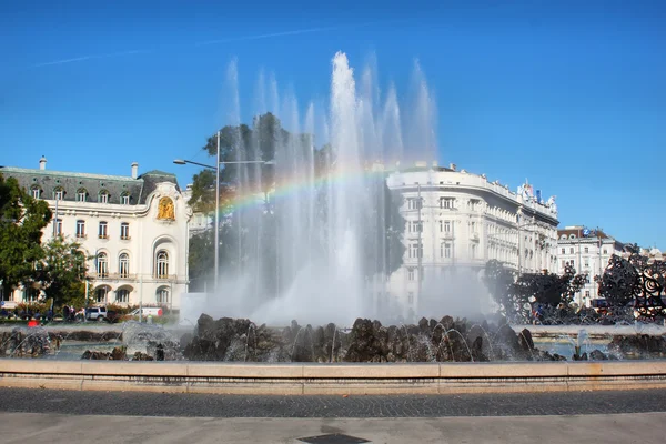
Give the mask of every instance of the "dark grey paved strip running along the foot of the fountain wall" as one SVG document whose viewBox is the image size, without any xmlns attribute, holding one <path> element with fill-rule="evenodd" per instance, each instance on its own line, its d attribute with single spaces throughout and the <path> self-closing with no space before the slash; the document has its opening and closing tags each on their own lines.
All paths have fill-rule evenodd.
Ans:
<svg viewBox="0 0 666 444">
<path fill-rule="evenodd" d="M 0 412 L 302 418 L 588 415 L 666 412 L 666 390 L 343 397 L 0 389 Z"/>
</svg>

